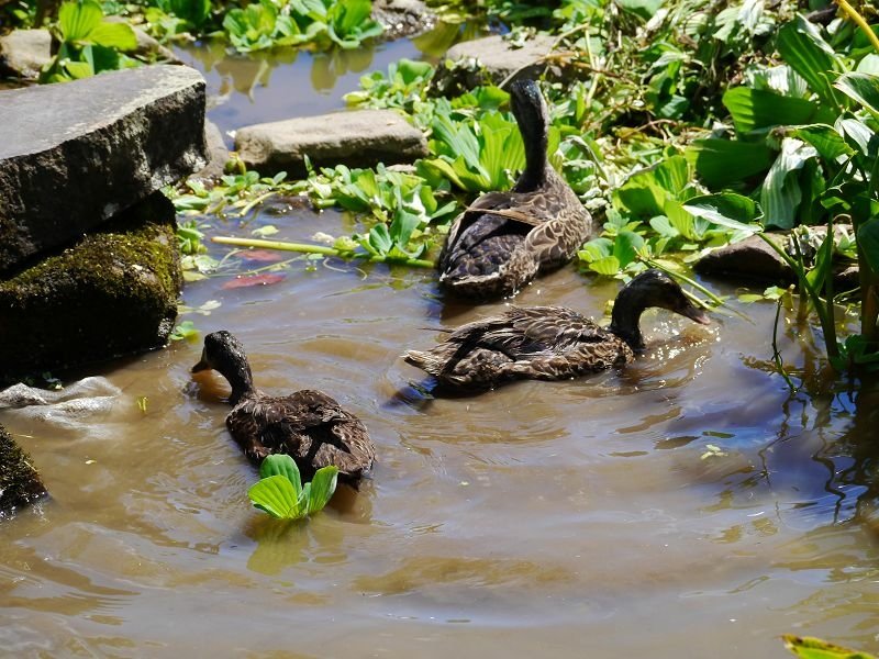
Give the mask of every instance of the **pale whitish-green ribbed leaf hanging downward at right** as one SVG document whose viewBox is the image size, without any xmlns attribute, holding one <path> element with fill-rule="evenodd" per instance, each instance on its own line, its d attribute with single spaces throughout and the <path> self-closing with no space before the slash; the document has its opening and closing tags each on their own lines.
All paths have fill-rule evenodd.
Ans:
<svg viewBox="0 0 879 659">
<path fill-rule="evenodd" d="M 814 147 L 799 139 L 786 137 L 781 143 L 781 153 L 766 175 L 760 190 L 766 226 L 791 228 L 795 224 L 797 210 L 802 201 L 797 172 L 806 160 L 816 156 Z"/>
</svg>

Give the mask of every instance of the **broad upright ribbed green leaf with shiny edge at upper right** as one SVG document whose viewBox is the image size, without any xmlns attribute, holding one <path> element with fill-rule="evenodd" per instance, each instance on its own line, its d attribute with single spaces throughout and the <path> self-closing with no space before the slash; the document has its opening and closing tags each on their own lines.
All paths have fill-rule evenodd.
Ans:
<svg viewBox="0 0 879 659">
<path fill-rule="evenodd" d="M 778 31 L 776 46 L 781 58 L 805 79 L 823 103 L 832 108 L 839 105 L 831 85 L 830 71 L 842 71 L 844 68 L 839 56 L 821 37 L 814 24 L 797 14 Z"/>
</svg>

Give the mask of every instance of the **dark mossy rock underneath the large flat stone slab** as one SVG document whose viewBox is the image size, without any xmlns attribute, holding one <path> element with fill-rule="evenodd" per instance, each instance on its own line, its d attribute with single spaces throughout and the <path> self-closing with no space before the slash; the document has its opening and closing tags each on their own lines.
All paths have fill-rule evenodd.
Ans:
<svg viewBox="0 0 879 659">
<path fill-rule="evenodd" d="M 0 381 L 166 345 L 181 275 L 155 192 L 75 246 L 0 279 Z"/>
</svg>

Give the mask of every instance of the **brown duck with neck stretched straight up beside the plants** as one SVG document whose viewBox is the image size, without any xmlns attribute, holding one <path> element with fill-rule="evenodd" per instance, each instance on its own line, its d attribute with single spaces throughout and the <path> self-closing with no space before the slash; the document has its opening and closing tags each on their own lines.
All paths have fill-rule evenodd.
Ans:
<svg viewBox="0 0 879 659">
<path fill-rule="evenodd" d="M 510 86 L 525 169 L 510 191 L 483 194 L 452 224 L 439 253 L 439 286 L 468 298 L 516 293 L 558 268 L 594 233 L 592 216 L 546 157 L 549 112 L 534 80 Z"/>
</svg>

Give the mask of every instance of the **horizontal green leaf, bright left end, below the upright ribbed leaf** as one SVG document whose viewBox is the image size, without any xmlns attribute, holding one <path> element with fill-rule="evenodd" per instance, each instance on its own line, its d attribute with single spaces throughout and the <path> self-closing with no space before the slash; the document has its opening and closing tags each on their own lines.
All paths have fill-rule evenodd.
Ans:
<svg viewBox="0 0 879 659">
<path fill-rule="evenodd" d="M 723 104 L 739 133 L 810 123 L 819 113 L 819 107 L 812 101 L 747 87 L 728 90 L 723 94 Z"/>
</svg>

